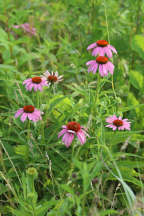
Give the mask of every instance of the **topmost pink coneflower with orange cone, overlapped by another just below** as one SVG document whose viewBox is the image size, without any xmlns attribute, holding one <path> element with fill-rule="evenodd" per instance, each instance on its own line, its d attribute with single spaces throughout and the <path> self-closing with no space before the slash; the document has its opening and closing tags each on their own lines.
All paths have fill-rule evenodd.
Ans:
<svg viewBox="0 0 144 216">
<path fill-rule="evenodd" d="M 108 58 L 112 57 L 112 52 L 117 54 L 116 49 L 110 45 L 106 40 L 98 40 L 88 46 L 87 50 L 92 49 L 92 56 L 104 56 L 105 54 Z"/>
</svg>

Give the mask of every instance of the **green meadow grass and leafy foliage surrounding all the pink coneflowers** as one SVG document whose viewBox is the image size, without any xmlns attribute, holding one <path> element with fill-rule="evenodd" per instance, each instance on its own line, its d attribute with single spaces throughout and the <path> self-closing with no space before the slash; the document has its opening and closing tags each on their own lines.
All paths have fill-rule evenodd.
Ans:
<svg viewBox="0 0 144 216">
<path fill-rule="evenodd" d="M 144 1 L 0 2 L 0 213 L 11 216 L 144 214 Z M 13 25 L 29 22 L 30 37 Z M 114 76 L 88 74 L 86 48 L 109 40 Z M 22 82 L 46 70 L 64 75 L 38 95 L 43 120 L 14 119 L 36 93 Z M 38 107 L 37 107 L 38 108 Z M 131 131 L 105 128 L 123 115 Z M 61 125 L 78 121 L 90 138 L 66 148 Z"/>
</svg>

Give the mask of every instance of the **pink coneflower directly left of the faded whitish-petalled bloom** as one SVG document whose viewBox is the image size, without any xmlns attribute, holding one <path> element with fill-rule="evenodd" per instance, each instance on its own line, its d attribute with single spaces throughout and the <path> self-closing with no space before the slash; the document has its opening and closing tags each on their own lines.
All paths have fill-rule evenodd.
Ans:
<svg viewBox="0 0 144 216">
<path fill-rule="evenodd" d="M 32 88 L 34 89 L 34 91 L 42 91 L 42 87 L 43 86 L 48 86 L 47 80 L 41 77 L 32 77 L 29 79 L 26 79 L 23 82 L 23 85 L 26 86 L 26 89 L 28 91 L 31 91 Z"/>
</svg>

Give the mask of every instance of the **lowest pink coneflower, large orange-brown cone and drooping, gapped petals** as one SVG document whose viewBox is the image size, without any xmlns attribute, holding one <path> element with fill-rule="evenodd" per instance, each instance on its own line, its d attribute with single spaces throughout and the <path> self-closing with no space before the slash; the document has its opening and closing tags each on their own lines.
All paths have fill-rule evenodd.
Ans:
<svg viewBox="0 0 144 216">
<path fill-rule="evenodd" d="M 75 121 L 68 122 L 67 125 L 63 125 L 62 128 L 63 129 L 58 134 L 58 138 L 64 135 L 62 141 L 64 142 L 67 148 L 71 145 L 74 139 L 74 135 L 77 136 L 81 145 L 83 145 L 86 142 L 86 136 L 89 136 L 84 130 L 84 128 L 80 126 L 78 122 Z"/>
</svg>

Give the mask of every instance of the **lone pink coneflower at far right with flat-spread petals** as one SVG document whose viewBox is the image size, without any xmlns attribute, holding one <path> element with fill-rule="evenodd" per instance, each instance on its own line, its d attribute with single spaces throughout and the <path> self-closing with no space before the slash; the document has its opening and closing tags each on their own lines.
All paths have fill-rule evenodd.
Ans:
<svg viewBox="0 0 144 216">
<path fill-rule="evenodd" d="M 122 119 L 122 117 L 116 117 L 116 115 L 106 118 L 106 122 L 109 123 L 106 127 L 112 128 L 113 130 L 130 130 L 131 122 L 128 119 Z"/>
</svg>

